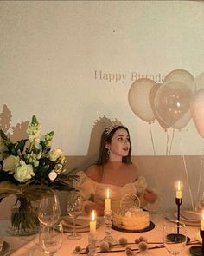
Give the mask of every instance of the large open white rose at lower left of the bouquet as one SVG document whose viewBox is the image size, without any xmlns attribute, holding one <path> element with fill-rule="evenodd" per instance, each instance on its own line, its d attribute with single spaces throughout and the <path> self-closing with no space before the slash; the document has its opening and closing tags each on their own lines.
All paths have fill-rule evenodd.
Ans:
<svg viewBox="0 0 204 256">
<path fill-rule="evenodd" d="M 35 173 L 33 167 L 31 165 L 24 164 L 22 166 L 16 167 L 14 178 L 16 181 L 26 182 L 29 181 L 34 175 Z"/>
</svg>

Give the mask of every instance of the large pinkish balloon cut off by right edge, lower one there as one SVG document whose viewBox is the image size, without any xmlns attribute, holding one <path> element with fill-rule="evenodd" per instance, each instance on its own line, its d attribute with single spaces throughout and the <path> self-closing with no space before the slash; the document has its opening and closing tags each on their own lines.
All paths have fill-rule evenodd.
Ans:
<svg viewBox="0 0 204 256">
<path fill-rule="evenodd" d="M 199 89 L 190 105 L 194 125 L 201 137 L 204 138 L 204 89 Z"/>
</svg>

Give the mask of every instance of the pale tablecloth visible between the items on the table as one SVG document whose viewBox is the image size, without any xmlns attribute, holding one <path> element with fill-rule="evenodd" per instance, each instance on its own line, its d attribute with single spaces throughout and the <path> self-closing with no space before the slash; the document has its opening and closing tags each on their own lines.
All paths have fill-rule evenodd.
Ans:
<svg viewBox="0 0 204 256">
<path fill-rule="evenodd" d="M 162 229 L 163 229 L 163 221 L 165 218 L 163 214 L 153 214 L 150 215 L 150 220 L 155 223 L 155 228 L 151 231 L 145 233 L 121 233 L 115 230 L 112 230 L 112 237 L 115 240 L 119 240 L 122 237 L 125 237 L 129 243 L 134 242 L 136 238 L 140 236 L 145 236 L 148 242 L 162 242 Z M 0 222 L 1 230 L 6 227 L 8 223 L 5 221 Z M 4 227 L 3 227 L 4 226 Z M 195 240 L 196 234 L 198 233 L 199 227 L 197 226 L 188 226 L 188 237 L 191 240 Z M 80 240 L 69 240 L 68 233 L 64 233 L 64 240 L 61 246 L 61 249 L 56 256 L 72 256 L 74 255 L 73 250 L 75 246 L 86 247 L 88 243 L 88 233 L 82 233 L 82 238 Z M 100 226 L 97 229 L 97 239 L 98 241 L 102 240 L 105 236 L 105 229 L 104 225 Z M 10 236 L 9 234 L 4 233 L 4 240 L 10 244 L 10 256 L 32 256 L 36 249 L 38 248 L 38 235 L 29 236 L 29 237 L 17 237 L 17 236 Z M 99 243 L 99 242 L 98 242 Z M 150 246 L 150 245 L 149 245 Z M 131 247 L 135 248 L 136 246 Z M 186 246 L 186 248 L 180 253 L 180 255 L 190 255 L 189 248 L 191 246 Z M 118 249 L 124 249 L 123 247 L 118 247 Z M 126 255 L 125 252 L 121 253 L 99 253 L 101 256 L 119 256 L 119 255 Z M 98 254 L 98 255 L 99 255 Z M 149 250 L 150 255 L 156 256 L 165 256 L 169 255 L 165 248 L 159 248 L 154 250 Z M 76 255 L 76 254 L 75 254 Z"/>
</svg>

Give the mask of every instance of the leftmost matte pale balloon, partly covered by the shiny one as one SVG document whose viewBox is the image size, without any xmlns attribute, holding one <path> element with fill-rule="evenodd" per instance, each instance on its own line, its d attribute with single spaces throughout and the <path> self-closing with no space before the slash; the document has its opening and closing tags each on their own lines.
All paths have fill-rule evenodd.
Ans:
<svg viewBox="0 0 204 256">
<path fill-rule="evenodd" d="M 156 82 L 150 79 L 138 79 L 132 83 L 128 94 L 131 110 L 143 121 L 154 121 L 155 115 L 149 101 L 150 89 Z"/>
</svg>

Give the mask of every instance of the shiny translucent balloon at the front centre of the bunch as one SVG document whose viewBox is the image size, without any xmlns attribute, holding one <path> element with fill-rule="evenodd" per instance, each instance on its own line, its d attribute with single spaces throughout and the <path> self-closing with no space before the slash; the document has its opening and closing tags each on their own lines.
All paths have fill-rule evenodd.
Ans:
<svg viewBox="0 0 204 256">
<path fill-rule="evenodd" d="M 165 82 L 156 92 L 156 113 L 172 128 L 183 128 L 191 118 L 192 98 L 192 91 L 184 83 Z"/>
</svg>

